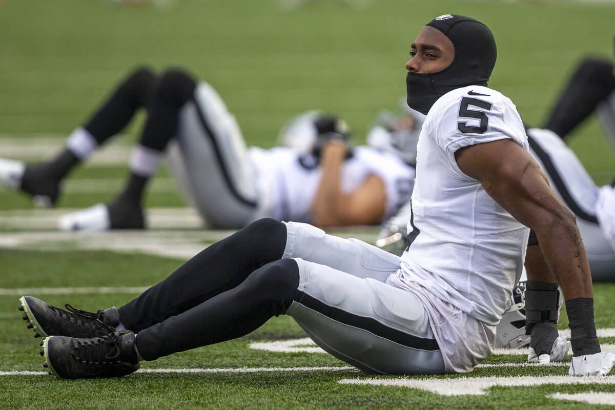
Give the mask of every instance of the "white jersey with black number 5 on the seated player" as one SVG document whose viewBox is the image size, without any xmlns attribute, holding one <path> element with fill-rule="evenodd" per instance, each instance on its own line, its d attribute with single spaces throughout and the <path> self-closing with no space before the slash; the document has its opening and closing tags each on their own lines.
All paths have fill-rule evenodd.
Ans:
<svg viewBox="0 0 615 410">
<path fill-rule="evenodd" d="M 470 371 L 490 354 L 494 325 L 525 259 L 530 229 L 464 174 L 454 157 L 460 148 L 504 138 L 529 149 L 512 101 L 475 85 L 440 97 L 419 136 L 410 246 L 387 282 L 423 300 L 451 372 Z"/>
</svg>

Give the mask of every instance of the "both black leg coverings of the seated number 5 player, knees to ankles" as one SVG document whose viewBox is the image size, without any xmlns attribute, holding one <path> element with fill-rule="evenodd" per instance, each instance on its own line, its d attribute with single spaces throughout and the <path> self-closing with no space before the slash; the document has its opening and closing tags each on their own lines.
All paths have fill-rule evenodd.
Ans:
<svg viewBox="0 0 615 410">
<path fill-rule="evenodd" d="M 243 336 L 284 313 L 299 283 L 296 262 L 280 260 L 285 246 L 285 225 L 260 219 L 122 306 L 141 356 L 154 360 Z"/>
</svg>

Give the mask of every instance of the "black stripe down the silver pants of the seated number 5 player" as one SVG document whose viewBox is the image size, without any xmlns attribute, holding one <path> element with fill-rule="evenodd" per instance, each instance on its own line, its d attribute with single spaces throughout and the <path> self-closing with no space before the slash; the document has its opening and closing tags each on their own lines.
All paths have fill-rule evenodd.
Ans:
<svg viewBox="0 0 615 410">
<path fill-rule="evenodd" d="M 344 323 L 344 325 L 354 326 L 355 328 L 367 330 L 376 336 L 384 337 L 384 339 L 398 343 L 406 347 L 412 347 L 413 349 L 420 350 L 440 350 L 440 346 L 435 339 L 429 339 L 425 337 L 413 336 L 408 333 L 403 333 L 397 329 L 389 328 L 383 325 L 378 320 L 354 315 L 346 312 L 338 307 L 328 306 L 318 299 L 310 296 L 302 291 L 297 291 L 295 301 L 303 306 L 309 307 L 309 309 L 322 313 L 323 315 L 330 317 L 333 320 Z"/>
</svg>

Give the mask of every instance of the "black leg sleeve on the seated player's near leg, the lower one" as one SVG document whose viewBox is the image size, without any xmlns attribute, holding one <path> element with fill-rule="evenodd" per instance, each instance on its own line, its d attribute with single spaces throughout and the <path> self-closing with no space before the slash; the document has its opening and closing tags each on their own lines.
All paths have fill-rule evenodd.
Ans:
<svg viewBox="0 0 615 410">
<path fill-rule="evenodd" d="M 299 286 L 294 259 L 280 259 L 253 272 L 241 285 L 137 334 L 145 360 L 228 341 L 285 313 Z"/>
</svg>

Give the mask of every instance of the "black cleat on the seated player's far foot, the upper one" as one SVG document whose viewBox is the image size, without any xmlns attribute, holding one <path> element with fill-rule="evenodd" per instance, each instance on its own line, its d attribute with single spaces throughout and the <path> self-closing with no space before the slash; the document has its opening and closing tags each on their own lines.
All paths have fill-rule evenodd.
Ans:
<svg viewBox="0 0 615 410">
<path fill-rule="evenodd" d="M 24 312 L 22 318 L 28 321 L 28 328 L 34 329 L 34 337 L 94 337 L 113 333 L 119 325 L 115 307 L 93 313 L 69 304 L 65 305 L 68 310 L 60 309 L 32 296 L 22 296 L 19 301 L 19 310 Z"/>
</svg>

